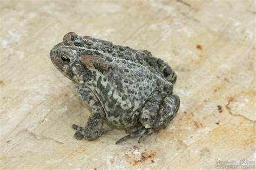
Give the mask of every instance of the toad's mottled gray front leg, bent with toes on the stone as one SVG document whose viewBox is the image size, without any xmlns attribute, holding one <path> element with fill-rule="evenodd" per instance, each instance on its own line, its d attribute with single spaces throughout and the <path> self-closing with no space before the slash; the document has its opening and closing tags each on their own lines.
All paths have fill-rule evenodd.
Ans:
<svg viewBox="0 0 256 170">
<path fill-rule="evenodd" d="M 77 87 L 77 91 L 80 97 L 90 105 L 92 114 L 88 118 L 85 128 L 75 124 L 72 125 L 72 128 L 77 130 L 74 137 L 79 140 L 83 138 L 86 138 L 87 140 L 95 140 L 102 136 L 102 134 L 110 131 L 102 129 L 105 118 L 104 109 L 98 98 L 90 89 L 85 87 Z"/>
</svg>

